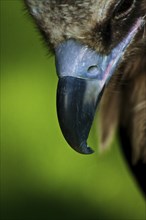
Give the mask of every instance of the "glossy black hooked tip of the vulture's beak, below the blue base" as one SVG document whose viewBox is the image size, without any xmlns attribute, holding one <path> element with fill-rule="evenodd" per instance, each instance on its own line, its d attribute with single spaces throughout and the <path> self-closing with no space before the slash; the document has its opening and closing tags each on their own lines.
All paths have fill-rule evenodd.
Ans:
<svg viewBox="0 0 146 220">
<path fill-rule="evenodd" d="M 57 112 L 62 133 L 77 152 L 91 154 L 86 140 L 93 122 L 101 92 L 96 82 L 65 76 L 59 79 Z"/>
</svg>

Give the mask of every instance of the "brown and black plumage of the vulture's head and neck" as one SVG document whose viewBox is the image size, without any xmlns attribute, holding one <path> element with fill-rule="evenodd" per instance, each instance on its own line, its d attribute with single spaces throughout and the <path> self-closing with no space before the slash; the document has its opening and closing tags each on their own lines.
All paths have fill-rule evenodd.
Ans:
<svg viewBox="0 0 146 220">
<path fill-rule="evenodd" d="M 25 0 L 25 3 L 53 52 L 60 43 L 74 39 L 106 56 L 141 19 L 105 87 L 99 111 L 101 149 L 109 145 L 117 129 L 127 161 L 145 191 L 146 0 Z"/>
</svg>

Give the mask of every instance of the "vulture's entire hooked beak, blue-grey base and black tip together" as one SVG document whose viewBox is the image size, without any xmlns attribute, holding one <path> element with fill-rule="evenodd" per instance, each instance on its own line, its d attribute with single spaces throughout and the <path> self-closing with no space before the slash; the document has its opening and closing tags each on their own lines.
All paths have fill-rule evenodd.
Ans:
<svg viewBox="0 0 146 220">
<path fill-rule="evenodd" d="M 93 153 L 87 139 L 97 105 L 142 22 L 138 19 L 128 35 L 108 55 L 99 54 L 73 39 L 59 44 L 55 50 L 59 77 L 58 120 L 66 141 L 79 153 Z"/>
</svg>

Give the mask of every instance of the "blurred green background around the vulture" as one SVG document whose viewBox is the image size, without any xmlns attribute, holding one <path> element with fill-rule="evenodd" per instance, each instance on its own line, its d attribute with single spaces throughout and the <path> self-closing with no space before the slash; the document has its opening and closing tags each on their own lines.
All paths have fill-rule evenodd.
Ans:
<svg viewBox="0 0 146 220">
<path fill-rule="evenodd" d="M 0 0 L 1 219 L 144 220 L 145 199 L 115 137 L 100 155 L 93 125 L 84 156 L 56 116 L 54 57 L 21 0 Z"/>
</svg>

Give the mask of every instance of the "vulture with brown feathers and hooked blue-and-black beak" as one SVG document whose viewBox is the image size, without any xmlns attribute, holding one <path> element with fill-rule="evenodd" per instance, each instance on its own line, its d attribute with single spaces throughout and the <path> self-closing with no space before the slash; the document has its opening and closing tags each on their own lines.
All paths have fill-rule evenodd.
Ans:
<svg viewBox="0 0 146 220">
<path fill-rule="evenodd" d="M 114 132 L 145 193 L 146 0 L 24 0 L 55 56 L 57 115 L 67 143 L 93 153 L 88 135 L 98 108 L 100 148 Z"/>
</svg>

